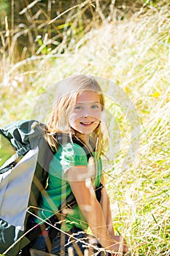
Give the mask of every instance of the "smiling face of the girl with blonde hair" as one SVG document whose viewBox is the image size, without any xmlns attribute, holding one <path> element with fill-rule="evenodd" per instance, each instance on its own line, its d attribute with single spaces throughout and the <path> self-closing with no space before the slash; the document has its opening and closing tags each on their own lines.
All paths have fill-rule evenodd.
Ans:
<svg viewBox="0 0 170 256">
<path fill-rule="evenodd" d="M 69 113 L 69 125 L 77 132 L 90 134 L 101 121 L 100 97 L 96 91 L 78 94 L 76 104 Z"/>
</svg>

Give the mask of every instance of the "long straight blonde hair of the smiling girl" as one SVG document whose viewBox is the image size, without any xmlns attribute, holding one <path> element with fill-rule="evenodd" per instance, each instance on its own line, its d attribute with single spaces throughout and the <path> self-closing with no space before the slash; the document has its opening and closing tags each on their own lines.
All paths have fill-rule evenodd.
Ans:
<svg viewBox="0 0 170 256">
<path fill-rule="evenodd" d="M 82 91 L 96 91 L 100 97 L 102 110 L 104 108 L 104 95 L 98 82 L 90 75 L 72 75 L 69 78 L 58 83 L 55 94 L 55 105 L 52 113 L 47 121 L 46 139 L 53 151 L 58 148 L 58 141 L 55 140 L 54 134 L 56 132 L 69 133 L 76 135 L 78 133 L 69 126 L 69 112 L 75 105 L 78 94 Z M 104 127 L 104 129 L 106 129 Z M 104 154 L 105 146 L 107 145 L 107 138 L 104 138 L 104 131 L 102 123 L 93 131 L 93 143 L 96 146 L 98 156 Z"/>
</svg>

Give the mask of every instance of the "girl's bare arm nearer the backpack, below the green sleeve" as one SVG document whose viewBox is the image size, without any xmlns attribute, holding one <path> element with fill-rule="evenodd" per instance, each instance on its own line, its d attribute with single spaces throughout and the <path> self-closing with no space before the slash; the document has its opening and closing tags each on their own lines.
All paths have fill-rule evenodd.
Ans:
<svg viewBox="0 0 170 256">
<path fill-rule="evenodd" d="M 86 181 L 80 181 L 80 179 L 77 178 L 80 177 L 80 174 L 85 176 L 85 173 L 88 173 L 88 169 L 85 166 L 71 167 L 67 172 L 67 178 L 74 197 L 76 198 L 90 229 L 93 231 L 93 234 L 96 236 L 101 246 L 105 249 L 118 252 L 120 247 L 120 237 L 115 236 L 114 238 L 114 236 L 111 237 L 109 235 L 104 212 L 102 211 L 100 203 L 96 200 L 96 195 L 90 178 Z M 125 246 L 124 250 L 127 251 Z"/>
</svg>

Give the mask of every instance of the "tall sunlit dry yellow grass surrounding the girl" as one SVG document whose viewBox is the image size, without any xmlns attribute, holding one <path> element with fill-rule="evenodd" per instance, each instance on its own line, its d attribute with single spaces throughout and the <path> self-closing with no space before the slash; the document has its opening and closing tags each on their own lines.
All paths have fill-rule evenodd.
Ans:
<svg viewBox="0 0 170 256">
<path fill-rule="evenodd" d="M 96 12 L 97 3 L 72 5 L 61 42 L 53 48 L 49 37 L 37 34 L 31 53 L 14 50 L 20 34 L 8 31 L 6 20 L 5 33 L 1 31 L 1 126 L 36 118 L 38 97 L 54 82 L 74 73 L 99 77 L 107 94 L 110 137 L 118 148 L 108 153 L 104 165 L 115 230 L 125 235 L 130 255 L 169 256 L 169 1 L 138 1 L 135 12 L 128 4 L 120 8 L 111 3 L 107 14 L 101 4 Z M 84 8 L 93 10 L 87 27 L 85 20 L 82 24 Z M 30 27 L 28 31 L 32 33 Z M 106 80 L 112 80 L 109 90 L 119 89 L 120 100 L 110 94 Z M 125 100 L 133 105 L 134 118 Z M 45 102 L 41 104 L 43 110 Z"/>
</svg>

